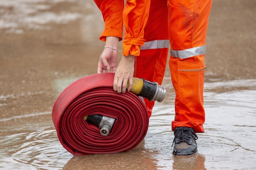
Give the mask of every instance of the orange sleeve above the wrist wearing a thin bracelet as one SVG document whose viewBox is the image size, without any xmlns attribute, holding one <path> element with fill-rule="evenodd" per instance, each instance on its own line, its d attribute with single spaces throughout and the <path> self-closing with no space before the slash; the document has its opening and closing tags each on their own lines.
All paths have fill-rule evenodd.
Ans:
<svg viewBox="0 0 256 170">
<path fill-rule="evenodd" d="M 100 40 L 106 41 L 106 37 L 123 38 L 123 9 L 124 0 L 94 0 L 97 7 L 101 10 L 105 29 L 100 35 Z"/>
</svg>

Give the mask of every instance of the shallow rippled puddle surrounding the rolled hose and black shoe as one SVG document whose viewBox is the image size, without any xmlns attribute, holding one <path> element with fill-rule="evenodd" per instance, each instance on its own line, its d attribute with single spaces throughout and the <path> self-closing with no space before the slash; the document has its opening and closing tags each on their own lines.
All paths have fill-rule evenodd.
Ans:
<svg viewBox="0 0 256 170">
<path fill-rule="evenodd" d="M 168 83 L 168 80 L 165 79 L 164 83 Z M 250 86 L 243 86 L 244 84 Z M 223 87 L 226 88 L 224 92 L 214 90 Z M 50 112 L 0 119 L 1 122 L 16 122 L 16 125 L 11 127 L 1 127 L 0 147 L 3 149 L 0 168 L 5 170 L 255 169 L 255 87 L 256 80 L 205 84 L 205 132 L 198 134 L 199 151 L 195 156 L 173 157 L 172 155 L 171 120 L 174 118 L 174 108 L 171 102 L 156 104 L 150 117 L 148 133 L 137 148 L 108 155 L 71 155 L 56 137 L 52 121 L 49 120 Z M 244 90 L 231 90 L 234 88 Z M 171 86 L 167 91 L 173 91 Z M 174 97 L 174 93 L 169 94 L 164 101 L 174 101 Z M 27 120 L 26 123 L 24 119 Z M 34 119 L 39 121 L 35 123 Z M 45 119 L 48 121 L 44 121 Z"/>
</svg>

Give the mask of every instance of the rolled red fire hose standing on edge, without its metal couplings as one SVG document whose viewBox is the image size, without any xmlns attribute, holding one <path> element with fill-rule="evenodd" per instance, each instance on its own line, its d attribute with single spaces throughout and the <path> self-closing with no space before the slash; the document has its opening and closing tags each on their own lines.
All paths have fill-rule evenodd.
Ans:
<svg viewBox="0 0 256 170">
<path fill-rule="evenodd" d="M 58 96 L 52 120 L 58 139 L 73 155 L 116 153 L 132 150 L 145 137 L 148 113 L 132 92 L 113 91 L 113 73 L 94 74 L 76 80 Z M 115 118 L 107 136 L 88 124 L 86 115 Z"/>
</svg>

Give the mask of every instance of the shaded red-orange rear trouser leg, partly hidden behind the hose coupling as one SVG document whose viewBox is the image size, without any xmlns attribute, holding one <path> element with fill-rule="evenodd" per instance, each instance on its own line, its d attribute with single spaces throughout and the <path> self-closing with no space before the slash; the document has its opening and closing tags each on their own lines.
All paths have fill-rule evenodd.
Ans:
<svg viewBox="0 0 256 170">
<path fill-rule="evenodd" d="M 148 22 L 144 29 L 146 42 L 140 55 L 135 57 L 135 77 L 162 84 L 168 57 L 168 9 L 167 0 L 151 0 Z M 145 99 L 151 115 L 155 101 Z"/>
</svg>

